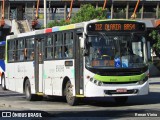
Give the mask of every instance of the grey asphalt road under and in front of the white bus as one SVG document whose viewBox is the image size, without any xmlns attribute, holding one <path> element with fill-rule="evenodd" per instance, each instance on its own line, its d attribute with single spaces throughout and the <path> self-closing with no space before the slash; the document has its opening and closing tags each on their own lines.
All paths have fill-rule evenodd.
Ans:
<svg viewBox="0 0 160 120">
<path fill-rule="evenodd" d="M 149 95 L 129 97 L 125 105 L 115 104 L 112 98 L 84 99 L 78 106 L 69 106 L 62 97 L 29 102 L 25 100 L 23 94 L 3 91 L 0 87 L 0 111 L 13 112 L 12 110 L 21 114 L 38 112 L 42 117 L 58 119 L 130 119 L 132 117 L 158 119 L 160 117 L 160 78 L 150 79 Z"/>
</svg>

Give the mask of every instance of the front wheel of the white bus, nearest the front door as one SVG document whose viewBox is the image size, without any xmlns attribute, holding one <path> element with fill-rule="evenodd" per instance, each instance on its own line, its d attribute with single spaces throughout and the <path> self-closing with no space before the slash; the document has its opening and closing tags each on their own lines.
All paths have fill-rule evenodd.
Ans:
<svg viewBox="0 0 160 120">
<path fill-rule="evenodd" d="M 77 98 L 73 96 L 73 87 L 70 81 L 68 81 L 66 84 L 66 100 L 67 100 L 67 103 L 71 106 L 74 106 L 77 104 Z"/>
</svg>

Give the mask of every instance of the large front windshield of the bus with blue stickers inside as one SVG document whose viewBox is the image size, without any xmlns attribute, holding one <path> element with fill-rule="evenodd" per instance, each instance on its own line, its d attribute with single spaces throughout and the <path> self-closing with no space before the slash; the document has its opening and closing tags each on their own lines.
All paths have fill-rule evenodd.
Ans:
<svg viewBox="0 0 160 120">
<path fill-rule="evenodd" d="M 86 39 L 86 66 L 142 68 L 146 66 L 146 40 L 142 35 L 99 32 Z"/>
</svg>

